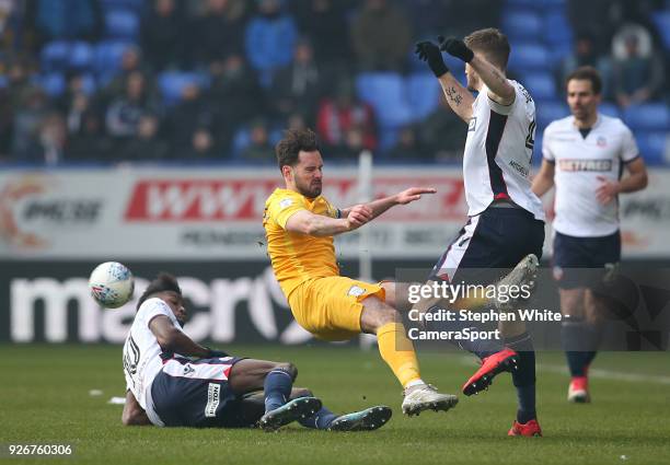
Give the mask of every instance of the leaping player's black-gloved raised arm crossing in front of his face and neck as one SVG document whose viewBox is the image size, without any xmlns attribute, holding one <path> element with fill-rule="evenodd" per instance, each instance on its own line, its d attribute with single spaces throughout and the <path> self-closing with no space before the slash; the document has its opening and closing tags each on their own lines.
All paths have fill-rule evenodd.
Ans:
<svg viewBox="0 0 670 465">
<path fill-rule="evenodd" d="M 469 63 L 488 88 L 488 96 L 500 105 L 511 105 L 515 102 L 516 91 L 505 74 L 486 61 L 481 55 L 475 55 L 463 40 L 455 37 L 438 37 L 440 50 L 447 51 Z"/>
</svg>

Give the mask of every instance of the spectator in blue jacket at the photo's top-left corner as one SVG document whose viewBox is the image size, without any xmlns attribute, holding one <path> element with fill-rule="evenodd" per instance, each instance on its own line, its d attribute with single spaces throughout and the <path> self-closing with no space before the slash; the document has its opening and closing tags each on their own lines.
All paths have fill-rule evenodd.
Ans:
<svg viewBox="0 0 670 465">
<path fill-rule="evenodd" d="M 24 3 L 27 42 L 36 49 L 55 39 L 94 42 L 104 31 L 97 0 L 33 0 Z"/>
</svg>

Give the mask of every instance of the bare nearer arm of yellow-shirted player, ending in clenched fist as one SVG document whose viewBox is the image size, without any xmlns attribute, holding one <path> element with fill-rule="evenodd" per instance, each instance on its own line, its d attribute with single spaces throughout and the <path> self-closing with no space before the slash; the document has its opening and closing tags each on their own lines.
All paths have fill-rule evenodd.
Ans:
<svg viewBox="0 0 670 465">
<path fill-rule="evenodd" d="M 299 210 L 286 222 L 286 230 L 293 233 L 328 236 L 354 231 L 372 219 L 372 212 L 365 206 L 356 206 L 343 212 L 343 218 L 331 218 Z"/>
</svg>

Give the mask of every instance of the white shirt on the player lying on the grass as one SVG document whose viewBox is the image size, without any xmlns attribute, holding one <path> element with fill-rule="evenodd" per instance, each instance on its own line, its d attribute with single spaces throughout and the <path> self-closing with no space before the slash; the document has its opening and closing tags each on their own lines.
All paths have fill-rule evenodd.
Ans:
<svg viewBox="0 0 670 465">
<path fill-rule="evenodd" d="M 163 422 L 155 414 L 151 399 L 151 384 L 163 368 L 163 350 L 149 328 L 149 323 L 158 315 L 168 316 L 177 329 L 182 329 L 170 306 L 161 299 L 152 298 L 142 302 L 124 345 L 124 373 L 127 388 L 147 411 L 151 422 L 162 427 Z"/>
</svg>

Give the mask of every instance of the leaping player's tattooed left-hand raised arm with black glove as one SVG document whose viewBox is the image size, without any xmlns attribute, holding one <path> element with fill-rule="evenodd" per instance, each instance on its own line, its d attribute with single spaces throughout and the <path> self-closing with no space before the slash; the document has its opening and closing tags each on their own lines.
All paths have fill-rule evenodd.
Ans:
<svg viewBox="0 0 670 465">
<path fill-rule="evenodd" d="M 428 63 L 428 67 L 440 82 L 451 109 L 465 123 L 470 121 L 474 97 L 449 71 L 442 59 L 440 48 L 434 43 L 426 40 L 416 44 L 414 53 L 420 60 Z"/>
</svg>

